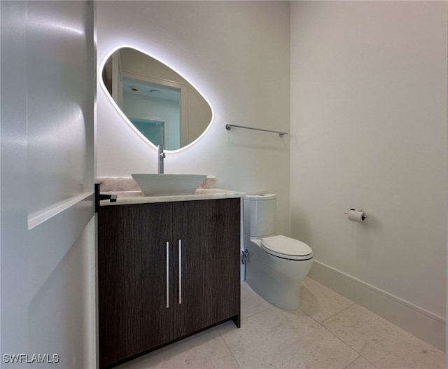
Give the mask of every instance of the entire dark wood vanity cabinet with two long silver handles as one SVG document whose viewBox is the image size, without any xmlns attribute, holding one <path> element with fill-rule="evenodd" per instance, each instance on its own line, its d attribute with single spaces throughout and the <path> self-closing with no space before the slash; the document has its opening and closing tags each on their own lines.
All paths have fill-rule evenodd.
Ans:
<svg viewBox="0 0 448 369">
<path fill-rule="evenodd" d="M 240 199 L 101 207 L 99 366 L 227 319 L 239 327 Z"/>
</svg>

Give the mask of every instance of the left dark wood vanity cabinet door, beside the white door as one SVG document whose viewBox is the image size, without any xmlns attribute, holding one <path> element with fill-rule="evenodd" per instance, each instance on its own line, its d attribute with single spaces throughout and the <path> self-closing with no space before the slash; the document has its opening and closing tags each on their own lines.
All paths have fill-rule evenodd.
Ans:
<svg viewBox="0 0 448 369">
<path fill-rule="evenodd" d="M 99 366 L 171 341 L 167 308 L 170 203 L 102 207 L 98 213 Z M 172 274 L 169 267 L 169 274 Z M 172 295 L 172 289 L 168 293 Z"/>
</svg>

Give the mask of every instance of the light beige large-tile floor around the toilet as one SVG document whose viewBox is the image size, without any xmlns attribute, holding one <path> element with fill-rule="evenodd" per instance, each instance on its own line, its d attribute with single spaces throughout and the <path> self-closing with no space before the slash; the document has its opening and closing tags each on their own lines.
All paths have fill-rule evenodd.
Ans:
<svg viewBox="0 0 448 369">
<path fill-rule="evenodd" d="M 146 368 L 444 368 L 444 352 L 307 277 L 300 309 L 270 305 L 241 283 L 231 321 L 118 366 Z"/>
</svg>

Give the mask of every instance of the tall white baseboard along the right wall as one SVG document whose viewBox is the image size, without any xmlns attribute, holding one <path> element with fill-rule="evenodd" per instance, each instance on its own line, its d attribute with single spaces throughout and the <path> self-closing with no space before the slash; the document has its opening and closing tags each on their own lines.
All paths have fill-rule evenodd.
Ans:
<svg viewBox="0 0 448 369">
<path fill-rule="evenodd" d="M 445 319 L 314 260 L 312 279 L 391 321 L 416 337 L 445 350 Z"/>
</svg>

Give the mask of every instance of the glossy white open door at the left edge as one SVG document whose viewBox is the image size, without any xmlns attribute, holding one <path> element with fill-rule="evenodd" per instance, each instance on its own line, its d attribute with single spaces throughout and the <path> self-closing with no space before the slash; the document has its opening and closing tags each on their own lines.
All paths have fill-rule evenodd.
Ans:
<svg viewBox="0 0 448 369">
<path fill-rule="evenodd" d="M 93 4 L 0 17 L 0 366 L 94 368 Z"/>
</svg>

